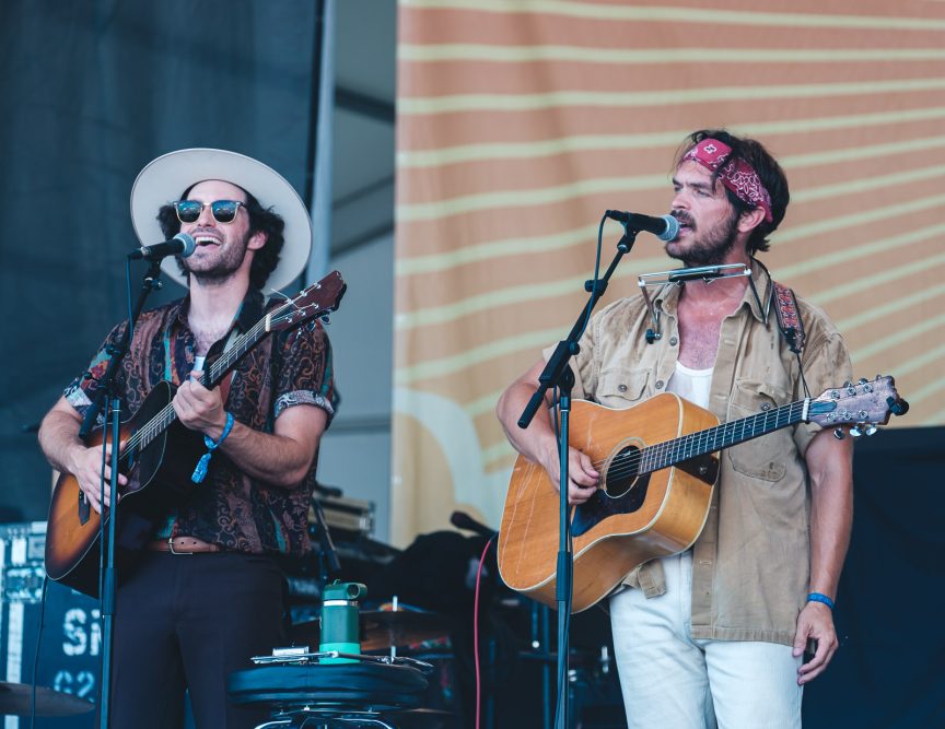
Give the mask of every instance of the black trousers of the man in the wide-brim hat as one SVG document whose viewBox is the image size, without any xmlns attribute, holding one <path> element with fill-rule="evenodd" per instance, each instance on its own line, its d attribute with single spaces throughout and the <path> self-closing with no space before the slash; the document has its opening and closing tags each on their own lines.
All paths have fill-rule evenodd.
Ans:
<svg viewBox="0 0 945 729">
<path fill-rule="evenodd" d="M 284 644 L 283 578 L 261 555 L 147 552 L 116 596 L 112 722 L 182 726 L 190 691 L 198 729 L 245 729 L 267 710 L 230 703 L 226 679 Z"/>
</svg>

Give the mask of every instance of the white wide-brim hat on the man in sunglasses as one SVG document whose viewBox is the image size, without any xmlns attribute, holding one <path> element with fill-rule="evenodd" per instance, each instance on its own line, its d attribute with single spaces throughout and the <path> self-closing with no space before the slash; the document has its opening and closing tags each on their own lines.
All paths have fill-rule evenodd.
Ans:
<svg viewBox="0 0 945 729">
<path fill-rule="evenodd" d="M 312 219 L 302 198 L 289 181 L 271 167 L 253 157 L 226 150 L 189 149 L 168 152 L 148 163 L 131 186 L 131 224 L 142 246 L 161 243 L 164 234 L 158 223 L 162 205 L 180 199 L 184 191 L 205 179 L 220 179 L 252 193 L 262 208 L 272 209 L 285 222 L 285 243 L 266 289 L 280 290 L 305 269 L 312 252 Z M 177 259 L 165 258 L 164 273 L 183 286 Z"/>
</svg>

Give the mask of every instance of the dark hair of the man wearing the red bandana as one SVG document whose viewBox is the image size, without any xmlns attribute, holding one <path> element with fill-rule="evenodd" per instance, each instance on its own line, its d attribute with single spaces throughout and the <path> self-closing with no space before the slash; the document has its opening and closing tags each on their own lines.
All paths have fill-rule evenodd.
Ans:
<svg viewBox="0 0 945 729">
<path fill-rule="evenodd" d="M 760 142 L 747 137 L 735 137 L 735 134 L 724 129 L 700 129 L 689 134 L 676 153 L 675 166 L 678 167 L 682 161 L 682 155 L 703 139 L 718 139 L 723 144 L 731 146 L 732 156 L 730 158 L 744 160 L 751 165 L 755 172 L 758 173 L 758 177 L 761 178 L 761 184 L 768 190 L 768 195 L 771 196 L 772 220 L 770 223 L 762 220 L 751 231 L 746 248 L 749 256 L 754 256 L 759 250 L 768 250 L 770 248 L 768 236 L 777 231 L 781 221 L 784 220 L 788 203 L 791 201 L 791 192 L 788 189 L 788 177 L 784 175 L 784 171 L 781 169 L 778 161 L 771 156 L 771 153 Z M 718 174 L 713 176 L 713 180 L 715 177 L 718 177 Z M 735 208 L 736 215 L 740 215 L 743 212 L 751 209 L 750 205 L 742 201 L 727 187 L 725 188 L 725 192 L 728 196 L 728 202 Z"/>
</svg>

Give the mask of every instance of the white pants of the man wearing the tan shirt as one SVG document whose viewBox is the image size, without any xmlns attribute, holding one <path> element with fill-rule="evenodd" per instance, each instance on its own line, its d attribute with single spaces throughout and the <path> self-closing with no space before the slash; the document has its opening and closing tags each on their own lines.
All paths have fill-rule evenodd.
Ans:
<svg viewBox="0 0 945 729">
<path fill-rule="evenodd" d="M 663 560 L 666 593 L 610 598 L 630 729 L 800 729 L 801 658 L 791 646 L 691 637 L 692 553 Z M 718 725 L 716 725 L 718 721 Z"/>
</svg>

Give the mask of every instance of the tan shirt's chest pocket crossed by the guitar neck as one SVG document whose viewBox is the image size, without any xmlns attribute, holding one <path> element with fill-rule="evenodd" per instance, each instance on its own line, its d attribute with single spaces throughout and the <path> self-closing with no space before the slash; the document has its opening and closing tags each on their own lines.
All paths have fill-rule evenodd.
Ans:
<svg viewBox="0 0 945 729">
<path fill-rule="evenodd" d="M 732 390 L 727 422 L 771 412 L 788 402 L 788 391 L 777 385 L 739 379 Z M 779 481 L 788 471 L 785 459 L 793 457 L 793 449 L 792 431 L 785 427 L 733 446 L 726 454 L 732 468 L 739 473 L 763 481 Z"/>
</svg>

